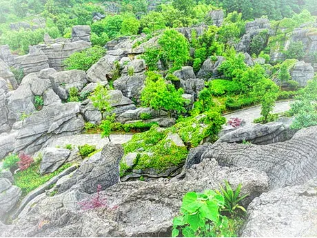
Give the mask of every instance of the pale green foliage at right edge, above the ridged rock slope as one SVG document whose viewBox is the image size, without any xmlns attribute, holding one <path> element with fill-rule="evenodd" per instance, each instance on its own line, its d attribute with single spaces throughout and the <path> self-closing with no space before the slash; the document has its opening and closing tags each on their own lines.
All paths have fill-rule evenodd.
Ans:
<svg viewBox="0 0 317 238">
<path fill-rule="evenodd" d="M 295 116 L 292 128 L 301 129 L 317 125 L 317 77 L 307 83 L 303 92 L 292 103 L 289 114 Z"/>
</svg>

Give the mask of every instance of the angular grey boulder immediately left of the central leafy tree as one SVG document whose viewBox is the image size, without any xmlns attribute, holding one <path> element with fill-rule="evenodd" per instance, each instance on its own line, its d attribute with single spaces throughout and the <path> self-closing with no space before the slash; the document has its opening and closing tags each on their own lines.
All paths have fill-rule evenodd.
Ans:
<svg viewBox="0 0 317 238">
<path fill-rule="evenodd" d="M 139 100 L 145 87 L 145 75 L 122 76 L 114 81 L 114 88 L 120 90 L 125 97 Z"/>
</svg>

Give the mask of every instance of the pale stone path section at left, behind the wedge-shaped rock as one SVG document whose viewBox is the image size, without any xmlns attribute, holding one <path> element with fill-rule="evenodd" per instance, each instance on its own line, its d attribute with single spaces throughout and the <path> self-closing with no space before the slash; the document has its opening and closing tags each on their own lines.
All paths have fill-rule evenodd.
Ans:
<svg viewBox="0 0 317 238">
<path fill-rule="evenodd" d="M 112 143 L 126 143 L 127 141 L 130 141 L 132 139 L 131 134 L 123 134 L 123 135 L 110 135 L 110 139 Z M 108 138 L 101 139 L 101 136 L 99 134 L 82 134 L 82 135 L 72 135 L 67 137 L 59 137 L 57 139 L 54 139 L 48 146 L 50 147 L 56 147 L 61 146 L 64 147 L 68 144 L 71 144 L 73 146 L 83 146 L 85 143 L 89 145 L 96 146 L 97 149 L 103 148 L 105 144 L 109 143 Z"/>
</svg>

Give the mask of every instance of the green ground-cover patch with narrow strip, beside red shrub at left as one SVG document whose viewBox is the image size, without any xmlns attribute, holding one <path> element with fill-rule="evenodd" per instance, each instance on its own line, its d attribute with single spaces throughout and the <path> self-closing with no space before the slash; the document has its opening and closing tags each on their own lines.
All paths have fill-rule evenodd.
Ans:
<svg viewBox="0 0 317 238">
<path fill-rule="evenodd" d="M 25 197 L 32 190 L 39 188 L 39 186 L 45 184 L 47 181 L 52 179 L 52 177 L 59 175 L 59 173 L 63 172 L 66 168 L 69 168 L 70 163 L 66 163 L 58 170 L 47 174 L 41 175 L 39 173 L 39 161 L 36 163 L 32 163 L 32 165 L 26 170 L 19 171 L 13 175 L 14 177 L 14 185 L 18 186 L 22 190 L 22 197 Z"/>
</svg>

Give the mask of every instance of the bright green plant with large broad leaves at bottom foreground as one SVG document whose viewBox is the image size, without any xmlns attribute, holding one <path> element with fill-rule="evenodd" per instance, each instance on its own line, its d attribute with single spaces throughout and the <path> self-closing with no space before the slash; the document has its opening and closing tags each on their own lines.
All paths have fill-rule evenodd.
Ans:
<svg viewBox="0 0 317 238">
<path fill-rule="evenodd" d="M 223 195 L 214 190 L 187 192 L 183 197 L 181 216 L 173 219 L 172 237 L 230 237 L 228 219 L 221 215 Z"/>
</svg>

